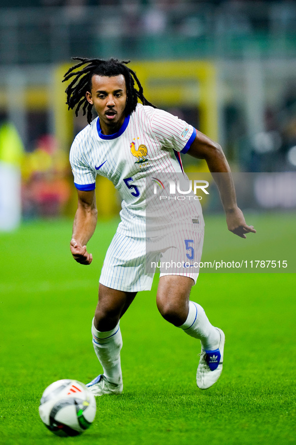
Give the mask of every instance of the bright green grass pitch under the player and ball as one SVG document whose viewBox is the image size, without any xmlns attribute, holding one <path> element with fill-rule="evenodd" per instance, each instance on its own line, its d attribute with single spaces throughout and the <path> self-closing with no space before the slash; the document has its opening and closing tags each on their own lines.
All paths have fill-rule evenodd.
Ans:
<svg viewBox="0 0 296 445">
<path fill-rule="evenodd" d="M 227 232 L 222 215 L 206 217 L 204 258 L 239 253 L 293 261 L 294 215 L 253 214 L 247 221 L 257 234 L 241 240 Z M 88 267 L 70 255 L 71 226 L 68 219 L 30 222 L 0 235 L 1 445 L 295 442 L 294 273 L 200 274 L 191 299 L 226 335 L 221 378 L 206 391 L 195 383 L 199 343 L 157 312 L 156 276 L 121 321 L 123 395 L 98 398 L 95 421 L 81 436 L 48 431 L 38 414 L 45 387 L 101 372 L 91 319 L 117 221 L 99 222 Z"/>
</svg>

